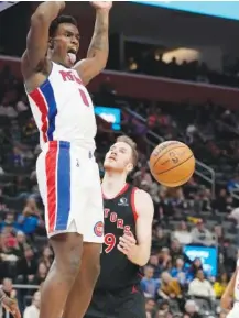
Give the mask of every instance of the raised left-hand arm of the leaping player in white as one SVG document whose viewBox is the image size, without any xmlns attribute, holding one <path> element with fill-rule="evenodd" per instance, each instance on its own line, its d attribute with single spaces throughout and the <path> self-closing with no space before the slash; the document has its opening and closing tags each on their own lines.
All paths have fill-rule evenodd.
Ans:
<svg viewBox="0 0 239 318">
<path fill-rule="evenodd" d="M 41 3 L 31 17 L 26 50 L 22 56 L 22 73 L 24 77 L 41 70 L 48 46 L 48 28 L 64 8 L 64 1 L 46 1 Z"/>
</svg>

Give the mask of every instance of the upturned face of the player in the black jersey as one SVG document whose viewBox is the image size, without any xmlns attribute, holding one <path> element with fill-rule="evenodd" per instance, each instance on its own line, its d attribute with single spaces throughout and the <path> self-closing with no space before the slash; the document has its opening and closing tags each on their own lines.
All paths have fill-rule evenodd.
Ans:
<svg viewBox="0 0 239 318">
<path fill-rule="evenodd" d="M 115 143 L 106 154 L 104 167 L 106 171 L 127 174 L 132 171 L 132 150 L 130 145 L 124 142 Z"/>
</svg>

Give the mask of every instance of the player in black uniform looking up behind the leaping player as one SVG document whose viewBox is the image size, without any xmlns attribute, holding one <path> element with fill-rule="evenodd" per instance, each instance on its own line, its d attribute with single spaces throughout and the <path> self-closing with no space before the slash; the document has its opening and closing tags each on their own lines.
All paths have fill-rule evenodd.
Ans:
<svg viewBox="0 0 239 318">
<path fill-rule="evenodd" d="M 126 182 L 137 157 L 134 142 L 120 136 L 105 158 L 105 244 L 99 279 L 85 318 L 145 317 L 140 266 L 150 257 L 153 202 L 148 193 Z M 64 318 L 78 317 L 77 294 L 75 298 Z"/>
</svg>

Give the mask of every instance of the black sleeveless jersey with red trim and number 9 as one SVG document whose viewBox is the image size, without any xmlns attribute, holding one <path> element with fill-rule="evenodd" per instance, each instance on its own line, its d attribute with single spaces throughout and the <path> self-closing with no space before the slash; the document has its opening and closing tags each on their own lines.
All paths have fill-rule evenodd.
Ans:
<svg viewBox="0 0 239 318">
<path fill-rule="evenodd" d="M 119 238 L 124 232 L 131 231 L 135 238 L 135 190 L 127 184 L 113 199 L 104 196 L 105 243 L 96 289 L 116 290 L 137 285 L 141 281 L 140 267 L 117 249 Z"/>
</svg>

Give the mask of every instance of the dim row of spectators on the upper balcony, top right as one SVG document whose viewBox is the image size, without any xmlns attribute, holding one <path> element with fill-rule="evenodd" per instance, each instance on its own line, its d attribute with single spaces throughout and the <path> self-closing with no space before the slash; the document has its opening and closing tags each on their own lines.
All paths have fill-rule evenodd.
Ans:
<svg viewBox="0 0 239 318">
<path fill-rule="evenodd" d="M 222 72 L 211 70 L 205 62 L 183 61 L 173 57 L 170 62 L 164 58 L 164 50 L 153 45 L 135 45 L 127 43 L 126 70 L 152 76 L 163 76 L 198 83 L 211 83 L 238 87 L 239 61 L 225 66 Z M 129 46 L 129 47 L 128 47 Z"/>
</svg>

